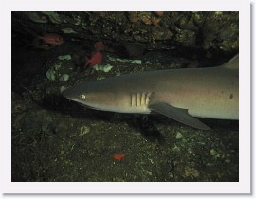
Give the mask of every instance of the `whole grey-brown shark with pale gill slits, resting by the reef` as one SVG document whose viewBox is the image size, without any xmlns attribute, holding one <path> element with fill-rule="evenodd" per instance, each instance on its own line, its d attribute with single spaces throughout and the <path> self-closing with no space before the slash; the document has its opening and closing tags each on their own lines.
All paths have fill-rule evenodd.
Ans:
<svg viewBox="0 0 256 199">
<path fill-rule="evenodd" d="M 85 82 L 63 95 L 92 109 L 157 112 L 209 130 L 197 118 L 239 119 L 239 55 L 215 67 L 155 70 Z"/>
</svg>

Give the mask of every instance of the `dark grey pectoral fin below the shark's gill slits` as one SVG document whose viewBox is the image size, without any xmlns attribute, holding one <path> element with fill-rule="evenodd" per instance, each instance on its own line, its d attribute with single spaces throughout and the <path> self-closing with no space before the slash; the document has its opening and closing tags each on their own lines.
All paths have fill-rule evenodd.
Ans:
<svg viewBox="0 0 256 199">
<path fill-rule="evenodd" d="M 203 122 L 197 118 L 193 118 L 188 113 L 187 109 L 175 108 L 167 103 L 162 102 L 150 104 L 149 109 L 154 110 L 155 112 L 158 112 L 159 114 L 162 114 L 168 118 L 172 118 L 176 121 L 184 123 L 188 126 L 202 130 L 210 130 L 210 127 L 205 125 Z"/>
</svg>

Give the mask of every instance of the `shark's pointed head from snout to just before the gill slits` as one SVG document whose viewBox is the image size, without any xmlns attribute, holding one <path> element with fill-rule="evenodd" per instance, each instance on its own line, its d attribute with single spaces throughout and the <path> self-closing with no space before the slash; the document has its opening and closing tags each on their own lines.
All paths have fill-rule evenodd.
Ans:
<svg viewBox="0 0 256 199">
<path fill-rule="evenodd" d="M 101 111 L 134 113 L 131 109 L 131 93 L 115 80 L 105 79 L 82 83 L 66 89 L 63 96 Z"/>
</svg>

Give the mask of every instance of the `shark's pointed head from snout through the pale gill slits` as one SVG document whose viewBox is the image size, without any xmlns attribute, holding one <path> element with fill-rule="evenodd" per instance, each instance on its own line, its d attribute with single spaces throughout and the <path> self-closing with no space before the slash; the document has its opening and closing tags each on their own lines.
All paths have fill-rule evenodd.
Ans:
<svg viewBox="0 0 256 199">
<path fill-rule="evenodd" d="M 119 77 L 87 82 L 66 89 L 63 96 L 101 111 L 149 113 L 147 105 L 151 93 L 134 91 L 130 83 L 124 83 Z"/>
</svg>

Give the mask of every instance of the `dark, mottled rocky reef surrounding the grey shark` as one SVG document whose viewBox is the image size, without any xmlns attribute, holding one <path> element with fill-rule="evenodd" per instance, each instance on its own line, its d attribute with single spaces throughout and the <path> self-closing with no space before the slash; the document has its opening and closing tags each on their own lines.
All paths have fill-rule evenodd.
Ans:
<svg viewBox="0 0 256 199">
<path fill-rule="evenodd" d="M 121 74 L 227 62 L 238 12 L 12 12 L 12 181 L 239 181 L 239 122 L 208 132 L 62 97 Z"/>
</svg>

